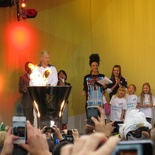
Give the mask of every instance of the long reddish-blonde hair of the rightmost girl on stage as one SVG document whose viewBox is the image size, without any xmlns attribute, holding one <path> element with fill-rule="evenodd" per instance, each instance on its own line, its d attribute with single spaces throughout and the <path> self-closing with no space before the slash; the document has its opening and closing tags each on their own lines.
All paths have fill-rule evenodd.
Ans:
<svg viewBox="0 0 155 155">
<path fill-rule="evenodd" d="M 148 86 L 149 87 L 149 92 L 148 94 L 150 95 L 150 104 L 153 106 L 153 102 L 152 102 L 152 93 L 151 93 L 151 86 L 148 82 L 145 82 L 143 85 L 142 85 L 142 91 L 140 93 L 140 104 L 143 105 L 143 101 L 145 99 L 145 94 L 143 92 L 143 87 L 144 86 Z"/>
</svg>

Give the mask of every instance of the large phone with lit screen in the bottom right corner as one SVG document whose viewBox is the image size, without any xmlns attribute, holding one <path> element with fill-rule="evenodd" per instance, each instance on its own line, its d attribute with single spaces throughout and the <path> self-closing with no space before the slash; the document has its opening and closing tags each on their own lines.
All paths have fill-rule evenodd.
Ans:
<svg viewBox="0 0 155 155">
<path fill-rule="evenodd" d="M 151 140 L 121 141 L 115 147 L 112 155 L 153 155 L 153 142 Z"/>
</svg>

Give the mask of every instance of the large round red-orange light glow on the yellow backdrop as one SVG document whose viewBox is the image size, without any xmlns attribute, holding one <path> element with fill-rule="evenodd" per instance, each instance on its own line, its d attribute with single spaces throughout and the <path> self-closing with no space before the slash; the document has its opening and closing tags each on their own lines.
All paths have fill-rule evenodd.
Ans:
<svg viewBox="0 0 155 155">
<path fill-rule="evenodd" d="M 21 67 L 23 69 L 24 62 L 35 60 L 38 55 L 36 51 L 42 48 L 41 38 L 38 37 L 37 32 L 37 29 L 25 21 L 13 21 L 5 25 L 3 31 L 5 52 L 2 54 L 2 58 L 9 68 L 19 69 Z M 23 66 L 19 66 L 17 62 Z"/>
</svg>

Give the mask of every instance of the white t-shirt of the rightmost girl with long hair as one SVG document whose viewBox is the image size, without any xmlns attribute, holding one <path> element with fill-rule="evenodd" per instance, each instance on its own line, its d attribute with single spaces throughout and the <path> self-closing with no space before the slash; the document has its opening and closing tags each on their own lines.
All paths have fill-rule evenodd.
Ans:
<svg viewBox="0 0 155 155">
<path fill-rule="evenodd" d="M 140 103 L 140 96 L 138 97 L 138 102 Z M 152 103 L 153 103 L 153 106 L 155 106 L 155 100 L 154 100 L 154 97 L 152 95 Z M 143 104 L 150 104 L 150 95 L 149 94 L 144 94 L 144 101 L 143 101 Z M 148 117 L 148 118 L 152 118 L 153 114 L 152 114 L 152 107 L 150 108 L 140 108 L 140 111 L 143 112 L 145 114 L 145 117 Z"/>
</svg>

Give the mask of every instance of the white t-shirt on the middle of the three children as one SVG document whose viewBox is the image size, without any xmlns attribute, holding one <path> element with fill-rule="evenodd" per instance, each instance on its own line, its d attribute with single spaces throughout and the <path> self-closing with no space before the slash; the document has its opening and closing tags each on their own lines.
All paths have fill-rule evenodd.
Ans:
<svg viewBox="0 0 155 155">
<path fill-rule="evenodd" d="M 137 102 L 138 102 L 138 97 L 135 94 L 129 95 L 126 94 L 126 104 L 127 104 L 127 109 L 129 108 L 136 108 Z"/>
</svg>

